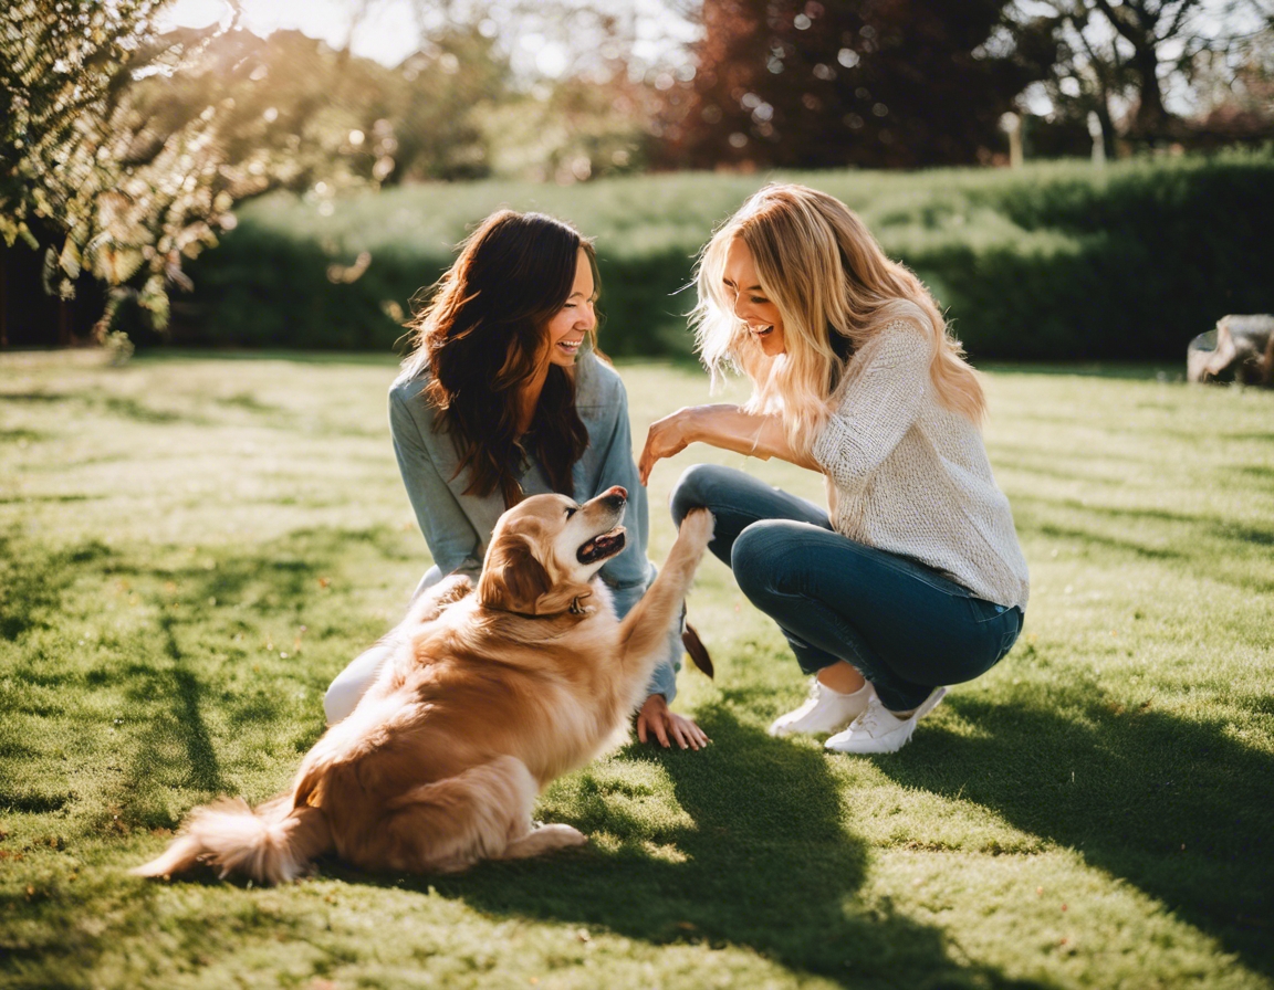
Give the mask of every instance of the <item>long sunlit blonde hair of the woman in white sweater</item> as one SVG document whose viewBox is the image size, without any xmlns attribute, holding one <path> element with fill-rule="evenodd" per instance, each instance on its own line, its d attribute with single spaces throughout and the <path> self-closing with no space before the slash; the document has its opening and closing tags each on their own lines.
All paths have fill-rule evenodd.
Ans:
<svg viewBox="0 0 1274 990">
<path fill-rule="evenodd" d="M 786 352 L 778 356 L 762 351 L 722 282 L 735 238 L 752 252 L 761 289 L 782 316 Z M 982 384 L 934 298 L 910 268 L 885 257 L 862 220 L 834 196 L 806 186 L 766 186 L 712 235 L 696 277 L 692 323 L 699 358 L 713 379 L 725 368 L 747 374 L 753 393 L 744 410 L 781 414 L 794 449 L 808 452 L 826 421 L 828 398 L 848 363 L 841 355 L 899 318 L 933 338 L 929 378 L 938 401 L 981 424 Z"/>
</svg>

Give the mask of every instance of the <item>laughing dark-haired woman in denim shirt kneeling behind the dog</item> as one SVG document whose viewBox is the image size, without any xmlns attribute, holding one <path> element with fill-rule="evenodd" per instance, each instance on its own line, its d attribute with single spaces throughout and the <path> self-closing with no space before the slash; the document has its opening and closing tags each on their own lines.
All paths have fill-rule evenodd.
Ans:
<svg viewBox="0 0 1274 990">
<path fill-rule="evenodd" d="M 592 244 L 543 214 L 502 210 L 461 246 L 415 321 L 390 389 L 390 431 L 415 518 L 433 555 L 417 588 L 476 580 L 496 520 L 526 495 L 590 499 L 628 490 L 628 546 L 603 566 L 620 616 L 655 578 L 646 559 L 646 490 L 637 480 L 623 382 L 596 350 Z M 327 722 L 345 718 L 392 649 L 382 641 L 333 681 Z M 682 641 L 670 630 L 637 734 L 698 749 L 707 736 L 671 713 Z"/>
</svg>

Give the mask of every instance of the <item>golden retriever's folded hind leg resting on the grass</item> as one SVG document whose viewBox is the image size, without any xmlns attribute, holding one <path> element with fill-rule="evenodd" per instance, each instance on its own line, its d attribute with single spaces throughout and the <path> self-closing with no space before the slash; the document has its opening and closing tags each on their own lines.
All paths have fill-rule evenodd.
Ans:
<svg viewBox="0 0 1274 990">
<path fill-rule="evenodd" d="M 373 840 L 380 861 L 369 865 L 455 873 L 482 859 L 520 859 L 583 841 L 569 826 L 531 830 L 538 793 L 539 783 L 513 756 L 413 788 L 390 803 Z"/>
</svg>

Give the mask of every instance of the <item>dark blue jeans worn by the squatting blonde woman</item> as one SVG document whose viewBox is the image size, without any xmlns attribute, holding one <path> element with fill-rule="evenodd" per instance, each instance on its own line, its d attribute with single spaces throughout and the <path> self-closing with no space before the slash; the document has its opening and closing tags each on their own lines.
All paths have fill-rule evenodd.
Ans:
<svg viewBox="0 0 1274 990">
<path fill-rule="evenodd" d="M 740 590 L 773 618 L 805 673 L 847 660 L 892 711 L 939 685 L 972 681 L 1009 652 L 1022 610 L 975 598 L 910 557 L 832 529 L 805 499 L 729 467 L 696 464 L 673 491 L 673 520 L 706 506 L 708 545 Z"/>
</svg>

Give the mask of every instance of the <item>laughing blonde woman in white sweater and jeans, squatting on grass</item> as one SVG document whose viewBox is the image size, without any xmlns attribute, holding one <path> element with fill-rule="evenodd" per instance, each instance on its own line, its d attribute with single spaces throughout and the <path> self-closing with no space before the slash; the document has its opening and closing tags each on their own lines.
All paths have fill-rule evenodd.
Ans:
<svg viewBox="0 0 1274 990">
<path fill-rule="evenodd" d="M 698 293 L 703 363 L 713 378 L 741 370 L 753 393 L 655 422 L 642 481 L 696 442 L 824 476 L 827 512 L 696 464 L 673 518 L 712 510 L 710 548 L 815 674 L 771 733 L 894 752 L 945 685 L 990 669 L 1022 631 L 1027 565 L 986 457 L 977 373 L 921 281 L 804 186 L 743 205 L 705 247 Z"/>
</svg>

